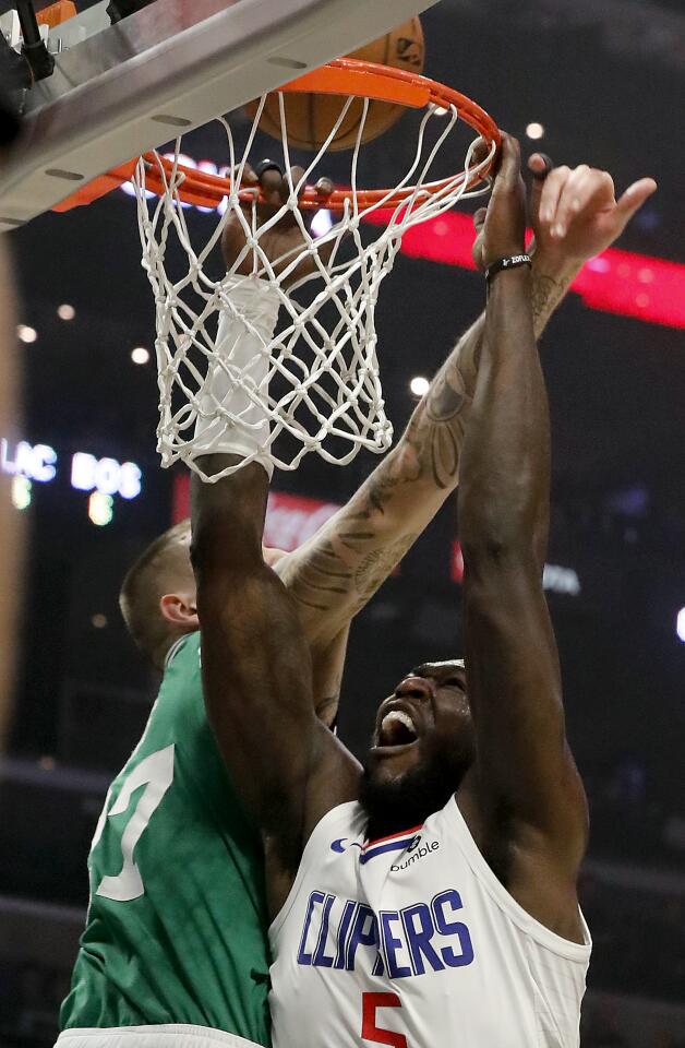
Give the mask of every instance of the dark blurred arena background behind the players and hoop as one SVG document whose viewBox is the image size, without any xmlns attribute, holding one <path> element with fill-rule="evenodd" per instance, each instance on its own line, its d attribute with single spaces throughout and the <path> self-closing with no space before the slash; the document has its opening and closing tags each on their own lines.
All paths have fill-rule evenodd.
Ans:
<svg viewBox="0 0 685 1048">
<path fill-rule="evenodd" d="M 445 0 L 423 22 L 428 72 L 472 95 L 502 127 L 525 141 L 528 122 L 540 121 L 539 145 L 556 163 L 605 167 L 621 189 L 654 176 L 659 193 L 620 246 L 685 263 L 680 2 Z M 202 130 L 187 151 L 223 163 L 218 142 Z M 368 147 L 363 177 L 396 179 L 408 148 L 400 123 Z M 344 178 L 338 162 L 328 170 Z M 189 223 L 199 237 L 212 228 L 200 214 Z M 0 1048 L 41 1048 L 53 1037 L 83 920 L 95 821 L 155 693 L 117 595 L 132 558 L 170 523 L 173 478 L 154 450 L 154 366 L 130 358 L 134 346 L 154 344 L 134 202 L 116 192 L 45 215 L 10 240 L 20 319 L 38 332 L 21 345 L 24 434 L 62 462 L 55 481 L 33 485 L 25 511 L 16 720 L 0 771 Z M 61 302 L 75 307 L 73 321 L 57 318 Z M 409 379 L 436 369 L 482 305 L 477 275 L 398 259 L 377 310 L 397 431 L 414 404 Z M 574 569 L 581 584 L 576 596 L 551 593 L 550 606 L 592 813 L 587 1048 L 685 1043 L 685 644 L 675 633 L 685 606 L 684 350 L 682 331 L 589 310 L 574 295 L 542 345 L 554 441 L 549 561 Z M 106 527 L 91 523 L 87 495 L 69 485 L 63 464 L 74 451 L 143 471 L 141 496 L 116 497 Z M 373 464 L 362 454 L 336 469 L 309 456 L 274 487 L 342 502 Z M 341 712 L 356 750 L 408 666 L 459 651 L 455 534 L 450 503 L 359 617 Z M 96 628 L 94 616 L 106 624 Z"/>
</svg>

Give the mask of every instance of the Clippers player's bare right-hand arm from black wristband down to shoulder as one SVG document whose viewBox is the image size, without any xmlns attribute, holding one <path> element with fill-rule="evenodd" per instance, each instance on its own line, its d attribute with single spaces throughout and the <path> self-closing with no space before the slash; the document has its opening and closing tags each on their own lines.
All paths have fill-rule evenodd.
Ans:
<svg viewBox="0 0 685 1048">
<path fill-rule="evenodd" d="M 459 528 L 474 793 L 485 842 L 504 836 L 513 848 L 512 893 L 548 926 L 576 936 L 577 914 L 566 904 L 575 900 L 586 806 L 565 739 L 542 590 L 550 427 L 530 282 L 526 269 L 493 282 L 462 458 Z M 528 897 L 536 876 L 538 895 Z M 568 890 L 561 907 L 560 884 Z"/>
</svg>

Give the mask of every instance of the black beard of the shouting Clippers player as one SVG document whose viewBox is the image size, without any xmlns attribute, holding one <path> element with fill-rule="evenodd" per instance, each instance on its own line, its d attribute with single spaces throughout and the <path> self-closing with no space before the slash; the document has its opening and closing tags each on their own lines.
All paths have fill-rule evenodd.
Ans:
<svg viewBox="0 0 685 1048">
<path fill-rule="evenodd" d="M 368 838 L 376 841 L 421 825 L 445 807 L 470 761 L 456 753 L 417 764 L 392 782 L 377 783 L 364 765 L 359 803 L 369 817 Z"/>
</svg>

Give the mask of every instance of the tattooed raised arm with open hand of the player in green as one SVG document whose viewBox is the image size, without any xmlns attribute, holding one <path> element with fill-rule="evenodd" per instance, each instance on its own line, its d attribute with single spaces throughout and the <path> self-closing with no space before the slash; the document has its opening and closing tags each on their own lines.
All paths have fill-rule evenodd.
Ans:
<svg viewBox="0 0 685 1048">
<path fill-rule="evenodd" d="M 656 184 L 641 179 L 616 202 L 606 171 L 584 164 L 546 174 L 551 162 L 541 154 L 530 158 L 529 168 L 536 235 L 532 321 L 539 337 L 584 263 L 621 235 Z M 476 215 L 477 259 L 484 215 L 484 210 Z M 284 563 L 283 577 L 315 651 L 325 653 L 335 644 L 456 489 L 484 331 L 483 313 L 438 370 L 396 448 Z M 334 705 L 332 699 L 329 713 Z"/>
</svg>

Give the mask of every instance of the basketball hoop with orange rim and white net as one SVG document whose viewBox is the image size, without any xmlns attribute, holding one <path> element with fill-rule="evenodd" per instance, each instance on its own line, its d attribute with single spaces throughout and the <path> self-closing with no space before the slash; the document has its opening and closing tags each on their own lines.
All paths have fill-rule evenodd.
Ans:
<svg viewBox="0 0 685 1048">
<path fill-rule="evenodd" d="M 347 96 L 340 116 L 326 141 L 296 184 L 288 144 L 285 93 L 309 92 Z M 390 272 L 404 233 L 435 218 L 461 198 L 478 195 L 489 188 L 489 174 L 501 142 L 492 118 L 469 98 L 428 78 L 402 70 L 339 59 L 286 84 L 278 92 L 284 170 L 288 200 L 274 217 L 260 226 L 254 188 L 242 186 L 266 96 L 257 107 L 242 156 L 237 155 L 229 122 L 218 118 L 227 142 L 227 170 L 232 177 L 211 175 L 180 162 L 179 138 L 171 156 L 147 153 L 103 177 L 100 187 L 86 187 L 81 200 L 95 199 L 118 182 L 131 178 L 139 207 L 143 266 L 153 286 L 157 313 L 157 362 L 160 418 L 157 449 L 164 466 L 184 461 L 204 480 L 217 480 L 236 468 L 207 477 L 197 466 L 194 427 L 199 419 L 220 420 L 237 436 L 248 432 L 250 422 L 231 414 L 225 403 L 207 405 L 206 376 L 219 368 L 230 390 L 244 394 L 239 402 L 257 405 L 269 422 L 266 443 L 241 465 L 267 457 L 281 469 L 295 469 L 302 457 L 315 451 L 328 462 L 344 465 L 361 448 L 382 453 L 392 443 L 393 429 L 385 410 L 376 357 L 375 303 L 383 278 Z M 322 195 L 314 188 L 315 170 L 345 119 L 351 104 L 362 99 L 363 110 L 357 142 L 350 151 L 349 189 Z M 413 158 L 393 188 L 362 189 L 358 162 L 371 99 L 423 109 Z M 435 126 L 434 121 L 438 121 Z M 435 178 L 434 164 L 457 124 L 466 124 L 476 138 L 466 151 L 462 168 L 445 178 Z M 431 133 L 436 127 L 434 139 Z M 340 154 L 338 154 L 339 156 Z M 257 159 L 261 159 L 257 158 Z M 254 162 L 254 160 L 253 160 Z M 325 174 L 325 171 L 321 171 Z M 151 193 L 157 200 L 151 199 Z M 195 249 L 182 204 L 217 209 L 218 222 L 209 239 Z M 308 213 L 326 209 L 332 227 L 316 237 L 310 231 Z M 387 223 L 372 243 L 364 243 L 360 225 L 372 213 L 383 211 Z M 269 260 L 260 238 L 290 212 L 297 222 L 302 249 L 280 260 Z M 237 265 L 213 279 L 207 273 L 211 254 L 219 246 L 228 221 L 238 217 L 252 252 L 252 272 L 267 281 L 278 294 L 280 324 L 262 354 L 268 357 L 268 374 L 255 384 L 250 374 L 231 365 L 230 356 L 216 342 L 218 319 L 229 311 L 239 317 L 228 294 L 239 276 Z M 375 231 L 375 230 L 374 230 Z M 176 240 L 188 265 L 173 278 L 169 251 Z M 325 252 L 322 250 L 325 248 Z M 348 258 L 346 258 L 346 251 Z M 313 261 L 314 272 L 290 283 L 303 253 Z M 324 257 L 327 261 L 324 263 Z M 243 252 L 244 259 L 244 252 Z M 288 290 L 286 291 L 286 287 Z M 249 325 L 249 321 L 247 322 Z M 224 397 L 230 403 L 231 397 Z M 233 400 L 235 402 L 235 400 Z M 245 412 L 242 412 L 245 415 Z"/>
</svg>

